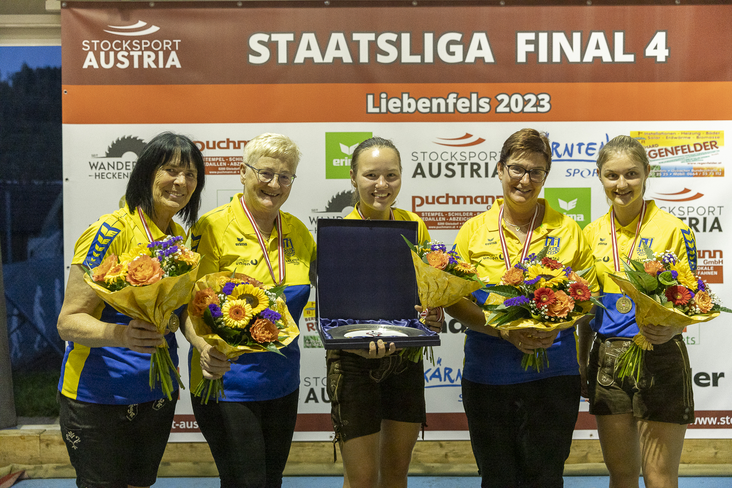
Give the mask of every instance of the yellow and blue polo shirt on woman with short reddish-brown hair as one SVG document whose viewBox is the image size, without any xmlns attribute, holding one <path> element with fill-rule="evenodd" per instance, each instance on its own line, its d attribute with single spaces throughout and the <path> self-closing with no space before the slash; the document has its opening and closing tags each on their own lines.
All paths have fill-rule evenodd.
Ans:
<svg viewBox="0 0 732 488">
<path fill-rule="evenodd" d="M 582 230 L 570 217 L 553 210 L 546 200 L 539 198 L 545 207 L 541 225 L 531 233 L 529 254 L 549 246 L 548 256 L 569 266 L 575 271 L 592 268 L 592 253 Z M 493 285 L 501 281 L 506 272 L 501 250 L 499 225 L 503 225 L 506 246 L 515 265 L 523 252 L 523 244 L 512 232 L 512 228 L 498 222 L 498 212 L 503 199 L 499 198 L 476 217 L 469 219 L 458 231 L 456 248 L 463 260 L 475 265 L 480 277 L 488 277 Z M 584 276 L 590 283 L 590 290 L 599 290 L 594 269 Z M 478 290 L 474 296 L 485 302 L 488 293 Z M 549 378 L 559 375 L 577 375 L 577 345 L 572 329 L 559 332 L 553 345 L 547 349 L 549 367 L 542 372 L 521 367 L 523 353 L 512 344 L 498 337 L 468 329 L 465 339 L 465 366 L 463 378 L 486 385 L 509 385 Z"/>
</svg>

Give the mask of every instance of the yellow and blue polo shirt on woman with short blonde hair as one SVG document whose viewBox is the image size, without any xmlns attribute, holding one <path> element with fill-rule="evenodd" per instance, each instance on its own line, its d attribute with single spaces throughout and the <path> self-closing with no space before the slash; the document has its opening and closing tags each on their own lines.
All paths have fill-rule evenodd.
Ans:
<svg viewBox="0 0 732 488">
<path fill-rule="evenodd" d="M 253 225 L 244 214 L 237 194 L 231 202 L 209 211 L 190 229 L 191 249 L 201 254 L 198 278 L 219 271 L 236 271 L 275 285 L 269 274 L 264 252 Z M 310 298 L 310 263 L 315 260 L 315 241 L 305 224 L 292 214 L 280 211 L 285 253 L 285 299 L 287 308 L 299 322 L 302 309 Z M 267 241 L 267 255 L 272 271 L 279 276 L 277 226 Z M 223 375 L 227 402 L 258 402 L 291 394 L 300 384 L 300 348 L 295 340 L 279 354 L 246 353 L 231 364 Z M 195 388 L 203 378 L 201 356 L 190 348 L 188 353 L 190 384 Z"/>
</svg>

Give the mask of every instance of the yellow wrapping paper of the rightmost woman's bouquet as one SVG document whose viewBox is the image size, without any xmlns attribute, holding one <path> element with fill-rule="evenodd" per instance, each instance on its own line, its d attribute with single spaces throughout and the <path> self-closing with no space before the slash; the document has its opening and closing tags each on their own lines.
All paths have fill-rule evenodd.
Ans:
<svg viewBox="0 0 732 488">
<path fill-rule="evenodd" d="M 694 323 L 702 323 L 712 320 L 717 317 L 717 315 L 720 315 L 720 312 L 712 312 L 703 315 L 686 315 L 684 312 L 681 312 L 681 310 L 664 307 L 654 299 L 651 299 L 650 296 L 638 291 L 627 279 L 617 277 L 613 274 L 610 274 L 610 279 L 620 287 L 623 293 L 630 296 L 632 301 L 635 302 L 635 322 L 638 323 L 638 326 L 654 325 L 687 327 Z M 638 336 L 643 337 L 643 334 L 638 334 Z M 646 341 L 645 337 L 638 340 L 634 337 L 633 340 L 641 346 L 643 350 L 653 350 L 653 345 Z"/>
</svg>

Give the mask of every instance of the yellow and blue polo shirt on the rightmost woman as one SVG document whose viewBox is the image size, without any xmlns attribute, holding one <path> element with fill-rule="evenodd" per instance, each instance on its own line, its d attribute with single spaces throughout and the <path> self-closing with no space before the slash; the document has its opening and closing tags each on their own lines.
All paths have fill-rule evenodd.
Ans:
<svg viewBox="0 0 732 488">
<path fill-rule="evenodd" d="M 633 260 L 644 260 L 647 258 L 643 249 L 643 243 L 653 249 L 653 252 L 663 252 L 667 249 L 687 263 L 691 271 L 696 271 L 696 239 L 692 230 L 673 217 L 666 211 L 659 209 L 653 200 L 647 200 L 646 216 L 641 223 L 641 230 L 638 235 L 638 243 L 633 251 Z M 597 309 L 590 326 L 593 331 L 605 337 L 633 337 L 638 334 L 638 324 L 635 323 L 635 303 L 628 313 L 620 313 L 616 308 L 616 301 L 622 296 L 618 285 L 613 282 L 608 274 L 615 273 L 613 263 L 613 243 L 610 233 L 610 219 L 613 209 L 610 208 L 607 214 L 591 222 L 584 229 L 585 237 L 589 242 L 594 255 L 594 265 L 597 269 L 597 280 L 602 288 L 602 304 L 608 309 Z M 618 252 L 620 259 L 627 259 L 630 247 L 635 239 L 635 230 L 638 228 L 638 217 L 635 217 L 630 224 L 622 227 L 620 222 L 615 221 L 616 238 L 618 239 Z M 622 274 L 622 271 L 621 273 Z"/>
</svg>

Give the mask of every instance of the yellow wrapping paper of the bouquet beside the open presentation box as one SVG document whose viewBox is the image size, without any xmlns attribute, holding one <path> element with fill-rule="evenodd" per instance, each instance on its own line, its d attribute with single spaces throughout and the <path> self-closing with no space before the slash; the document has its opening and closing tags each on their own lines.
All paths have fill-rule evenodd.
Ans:
<svg viewBox="0 0 732 488">
<path fill-rule="evenodd" d="M 481 282 L 456 277 L 447 271 L 433 268 L 414 251 L 411 254 L 422 307 L 447 307 L 483 287 Z"/>
</svg>

